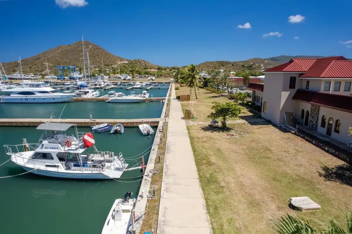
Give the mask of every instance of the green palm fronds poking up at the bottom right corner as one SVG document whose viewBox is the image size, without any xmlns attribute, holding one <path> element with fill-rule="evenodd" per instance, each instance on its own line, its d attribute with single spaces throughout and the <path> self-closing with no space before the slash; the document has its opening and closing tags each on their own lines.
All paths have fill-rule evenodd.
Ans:
<svg viewBox="0 0 352 234">
<path fill-rule="evenodd" d="M 322 230 L 316 230 L 309 222 L 301 217 L 285 215 L 272 220 L 273 228 L 279 234 L 352 234 L 352 212 L 344 212 L 346 229 L 333 218 L 328 224 L 323 224 Z"/>
</svg>

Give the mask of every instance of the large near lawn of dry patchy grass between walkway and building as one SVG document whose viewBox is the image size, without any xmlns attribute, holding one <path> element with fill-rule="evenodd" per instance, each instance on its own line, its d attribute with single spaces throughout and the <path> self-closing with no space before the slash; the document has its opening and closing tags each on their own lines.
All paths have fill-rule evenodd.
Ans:
<svg viewBox="0 0 352 234">
<path fill-rule="evenodd" d="M 188 126 L 214 234 L 274 233 L 270 218 L 286 213 L 316 227 L 329 217 L 343 221 L 341 209 L 352 207 L 351 166 L 269 124 L 229 126 L 238 137 Z M 292 210 L 294 196 L 309 196 L 322 209 Z"/>
</svg>

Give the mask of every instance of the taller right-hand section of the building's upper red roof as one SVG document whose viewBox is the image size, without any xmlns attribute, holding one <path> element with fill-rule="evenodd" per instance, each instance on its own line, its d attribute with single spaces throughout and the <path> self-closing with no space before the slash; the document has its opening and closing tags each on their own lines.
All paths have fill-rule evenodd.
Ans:
<svg viewBox="0 0 352 234">
<path fill-rule="evenodd" d="M 301 77 L 351 78 L 352 61 L 342 56 L 318 59 Z"/>
</svg>

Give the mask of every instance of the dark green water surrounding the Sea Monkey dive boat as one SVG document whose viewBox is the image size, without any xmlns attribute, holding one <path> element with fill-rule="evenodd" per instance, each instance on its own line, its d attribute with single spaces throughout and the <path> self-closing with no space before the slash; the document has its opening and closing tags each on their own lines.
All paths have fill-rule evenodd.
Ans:
<svg viewBox="0 0 352 234">
<path fill-rule="evenodd" d="M 80 132 L 89 130 L 78 128 Z M 27 138 L 28 143 L 37 143 L 40 134 L 41 131 L 34 127 L 0 127 L 0 164 L 9 158 L 2 145 L 21 144 L 21 138 Z M 143 136 L 138 128 L 125 128 L 124 134 L 120 135 L 94 134 L 98 150 L 122 152 L 125 157 L 144 151 L 152 144 L 153 137 Z M 11 161 L 0 166 L 0 176 L 24 172 Z M 139 175 L 139 170 L 127 171 L 122 177 Z M 136 195 L 139 186 L 140 181 L 73 180 L 31 173 L 0 178 L 1 233 L 101 233 L 114 200 L 126 191 Z"/>
</svg>

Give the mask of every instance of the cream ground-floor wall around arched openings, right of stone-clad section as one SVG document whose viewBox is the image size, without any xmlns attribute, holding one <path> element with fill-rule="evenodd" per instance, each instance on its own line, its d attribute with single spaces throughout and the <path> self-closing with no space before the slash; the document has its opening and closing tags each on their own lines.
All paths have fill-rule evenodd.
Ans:
<svg viewBox="0 0 352 234">
<path fill-rule="evenodd" d="M 322 128 L 321 127 L 321 120 L 322 120 L 322 116 L 324 116 L 324 115 L 326 116 L 326 125 L 325 125 L 325 128 Z M 348 131 L 348 128 L 352 126 L 352 113 L 334 110 L 334 109 L 320 106 L 318 127 L 317 127 L 317 131 L 319 133 L 326 135 L 327 122 L 330 117 L 332 117 L 334 119 L 331 137 L 334 139 L 337 139 L 338 141 L 346 143 L 346 144 L 351 143 L 352 137 L 348 136 L 347 131 Z M 334 132 L 335 122 L 337 121 L 337 119 L 339 119 L 341 121 L 340 133 Z"/>
</svg>

